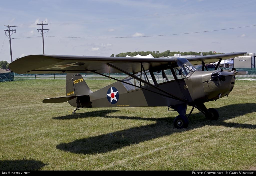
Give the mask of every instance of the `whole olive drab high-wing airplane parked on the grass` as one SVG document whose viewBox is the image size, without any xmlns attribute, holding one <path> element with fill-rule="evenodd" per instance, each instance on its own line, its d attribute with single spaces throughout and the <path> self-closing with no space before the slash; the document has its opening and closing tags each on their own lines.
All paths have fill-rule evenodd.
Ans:
<svg viewBox="0 0 256 176">
<path fill-rule="evenodd" d="M 215 54 L 187 58 L 133 58 L 63 55 L 30 55 L 9 64 L 9 68 L 22 73 L 67 73 L 66 96 L 47 98 L 43 103 L 68 102 L 80 108 L 92 107 L 142 107 L 166 106 L 177 111 L 175 128 L 187 128 L 188 118 L 194 108 L 207 119 L 217 120 L 219 113 L 206 108 L 205 102 L 228 96 L 232 91 L 236 75 L 246 71 L 217 70 L 221 60 L 241 56 L 247 52 Z M 214 71 L 206 64 L 218 61 Z M 202 65 L 197 71 L 193 65 Z M 80 73 L 96 73 L 106 76 L 115 83 L 92 92 Z M 125 73 L 118 80 L 103 73 Z M 192 109 L 187 113 L 187 106 Z"/>
</svg>

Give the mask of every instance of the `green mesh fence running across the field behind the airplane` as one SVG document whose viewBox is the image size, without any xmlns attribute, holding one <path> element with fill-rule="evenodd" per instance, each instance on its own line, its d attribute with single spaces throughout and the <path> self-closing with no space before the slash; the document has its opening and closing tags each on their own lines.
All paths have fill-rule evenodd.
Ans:
<svg viewBox="0 0 256 176">
<path fill-rule="evenodd" d="M 230 68 L 222 68 L 230 69 Z M 209 69 L 208 69 L 209 70 Z M 236 80 L 254 80 L 256 81 L 256 68 L 236 68 L 237 71 L 248 71 L 246 75 L 236 75 Z M 94 73 L 81 73 L 83 78 L 86 79 L 109 79 L 105 76 L 94 74 Z M 104 75 L 109 75 L 105 73 Z M 111 77 L 115 79 L 123 79 L 127 77 L 124 73 L 112 73 L 110 74 Z M 66 74 L 16 74 L 13 72 L 9 73 L 0 73 L 0 82 L 4 81 L 19 81 L 19 80 L 30 80 L 30 79 L 66 79 Z"/>
</svg>

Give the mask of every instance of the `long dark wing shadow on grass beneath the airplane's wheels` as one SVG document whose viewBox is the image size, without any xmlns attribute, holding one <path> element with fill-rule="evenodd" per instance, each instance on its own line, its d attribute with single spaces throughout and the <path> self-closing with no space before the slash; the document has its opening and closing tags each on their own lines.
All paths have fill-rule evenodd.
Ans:
<svg viewBox="0 0 256 176">
<path fill-rule="evenodd" d="M 136 128 L 130 128 L 122 131 L 113 132 L 114 135 L 104 134 L 100 136 L 94 136 L 84 139 L 77 139 L 70 143 L 61 143 L 56 146 L 57 149 L 63 151 L 69 151 L 73 153 L 81 154 L 96 154 L 105 153 L 108 151 L 116 150 L 125 146 L 138 144 L 140 142 L 171 135 L 173 133 L 179 133 L 194 128 L 203 127 L 205 125 L 216 125 L 216 126 L 226 126 L 234 128 L 248 128 L 256 129 L 256 125 L 251 124 L 240 124 L 240 123 L 230 123 L 225 122 L 225 120 L 235 118 L 240 115 L 255 112 L 255 103 L 246 104 L 234 104 L 225 107 L 217 108 L 220 112 L 220 117 L 218 120 L 206 120 L 204 115 L 199 112 L 197 114 L 191 114 L 189 118 L 190 126 L 188 128 L 176 129 L 173 126 L 174 117 L 164 117 L 164 118 L 141 118 L 141 117 L 126 117 L 126 116 L 116 116 L 113 118 L 120 119 L 141 119 L 141 120 L 152 120 L 155 124 L 140 126 Z M 248 108 L 251 107 L 251 108 Z M 232 109 L 239 111 L 239 114 L 235 114 Z M 230 110 L 230 111 L 229 111 Z M 108 113 L 109 110 L 104 110 Z M 84 113 L 84 117 L 88 113 Z M 66 116 L 65 116 L 66 117 Z M 196 117 L 196 118 L 195 118 Z"/>
</svg>

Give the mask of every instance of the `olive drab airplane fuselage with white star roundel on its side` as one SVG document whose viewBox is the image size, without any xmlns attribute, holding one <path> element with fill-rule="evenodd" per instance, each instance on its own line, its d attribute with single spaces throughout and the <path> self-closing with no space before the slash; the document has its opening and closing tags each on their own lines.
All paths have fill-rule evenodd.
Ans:
<svg viewBox="0 0 256 176">
<path fill-rule="evenodd" d="M 222 79 L 212 80 L 214 71 L 195 71 L 185 79 L 172 80 L 158 84 L 159 89 L 176 95 L 180 99 L 193 105 L 194 102 L 208 102 L 228 95 L 234 86 L 233 75 L 222 76 Z M 111 87 L 115 89 L 112 91 Z M 142 89 L 144 88 L 144 89 Z M 143 106 L 172 106 L 182 104 L 154 87 L 144 85 L 141 89 L 127 90 L 122 82 L 115 82 L 90 94 L 92 107 L 143 107 Z M 108 93 L 108 91 L 110 91 Z M 159 94 L 156 94 L 157 92 Z M 109 95 L 110 96 L 109 96 Z"/>
</svg>

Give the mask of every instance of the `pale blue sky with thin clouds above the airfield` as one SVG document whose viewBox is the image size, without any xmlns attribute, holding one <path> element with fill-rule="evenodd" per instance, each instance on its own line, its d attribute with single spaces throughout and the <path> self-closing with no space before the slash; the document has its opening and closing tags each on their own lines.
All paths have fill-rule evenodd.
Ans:
<svg viewBox="0 0 256 176">
<path fill-rule="evenodd" d="M 255 53 L 255 0 L 1 1 L 0 61 L 43 54 L 134 51 Z M 47 25 L 48 24 L 48 25 Z"/>
</svg>

